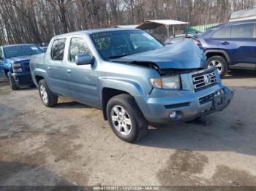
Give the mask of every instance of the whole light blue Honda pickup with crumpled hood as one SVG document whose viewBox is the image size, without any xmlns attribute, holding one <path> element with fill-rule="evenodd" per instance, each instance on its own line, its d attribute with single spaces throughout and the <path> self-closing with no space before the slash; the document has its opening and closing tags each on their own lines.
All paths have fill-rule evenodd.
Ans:
<svg viewBox="0 0 256 191">
<path fill-rule="evenodd" d="M 193 42 L 165 47 L 145 31 L 115 28 L 55 36 L 30 67 L 42 104 L 64 96 L 102 109 L 113 132 L 133 142 L 148 122 L 189 121 L 230 104 L 233 93 L 205 59 Z"/>
</svg>

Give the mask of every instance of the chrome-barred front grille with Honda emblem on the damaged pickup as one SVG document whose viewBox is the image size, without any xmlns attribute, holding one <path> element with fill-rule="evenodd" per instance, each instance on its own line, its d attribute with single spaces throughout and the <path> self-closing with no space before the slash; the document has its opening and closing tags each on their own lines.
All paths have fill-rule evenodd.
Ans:
<svg viewBox="0 0 256 191">
<path fill-rule="evenodd" d="M 214 71 L 205 71 L 199 74 L 192 75 L 192 81 L 195 88 L 195 91 L 202 90 L 211 85 L 217 84 L 217 79 L 214 74 Z"/>
</svg>

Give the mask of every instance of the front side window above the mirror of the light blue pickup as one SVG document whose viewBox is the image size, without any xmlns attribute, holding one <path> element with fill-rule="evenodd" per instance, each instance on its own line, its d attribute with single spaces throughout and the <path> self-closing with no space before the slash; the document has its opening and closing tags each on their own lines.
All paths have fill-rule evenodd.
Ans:
<svg viewBox="0 0 256 191">
<path fill-rule="evenodd" d="M 91 55 L 86 40 L 79 37 L 72 38 L 69 48 L 69 61 L 75 62 L 75 56 L 84 53 Z"/>
</svg>

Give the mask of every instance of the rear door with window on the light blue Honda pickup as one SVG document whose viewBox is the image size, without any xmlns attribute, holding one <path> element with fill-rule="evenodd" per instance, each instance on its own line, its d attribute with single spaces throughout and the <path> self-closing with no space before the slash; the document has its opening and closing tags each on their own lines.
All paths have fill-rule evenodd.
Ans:
<svg viewBox="0 0 256 191">
<path fill-rule="evenodd" d="M 69 97 L 67 83 L 67 62 L 64 61 L 66 38 L 54 39 L 50 49 L 47 72 L 50 90 L 59 95 Z M 66 53 L 65 53 L 66 52 Z"/>
</svg>

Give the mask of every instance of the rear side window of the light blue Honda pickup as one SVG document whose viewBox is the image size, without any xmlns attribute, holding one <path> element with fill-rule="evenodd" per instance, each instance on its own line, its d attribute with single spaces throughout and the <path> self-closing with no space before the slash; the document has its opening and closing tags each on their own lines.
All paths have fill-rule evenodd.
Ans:
<svg viewBox="0 0 256 191">
<path fill-rule="evenodd" d="M 51 47 L 51 58 L 54 61 L 62 61 L 64 56 L 66 39 L 56 39 Z"/>
</svg>

